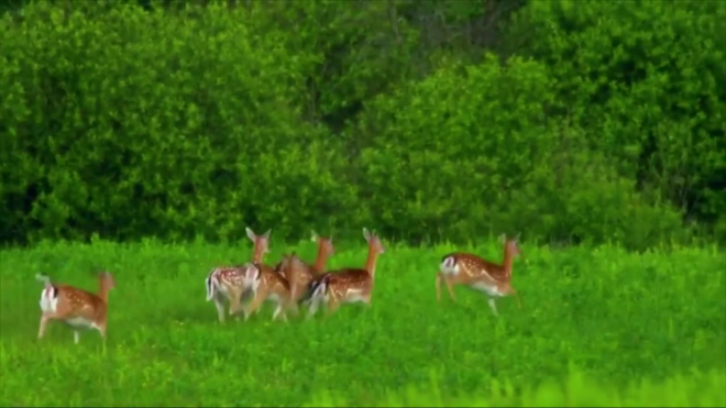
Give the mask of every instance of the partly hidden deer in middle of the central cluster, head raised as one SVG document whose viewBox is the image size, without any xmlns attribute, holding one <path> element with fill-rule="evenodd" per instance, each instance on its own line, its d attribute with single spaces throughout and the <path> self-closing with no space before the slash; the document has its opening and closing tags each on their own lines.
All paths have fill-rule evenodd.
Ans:
<svg viewBox="0 0 726 408">
<path fill-rule="evenodd" d="M 323 238 L 317 232 L 311 231 L 311 241 L 318 244 L 318 254 L 315 262 L 310 265 L 300 260 L 297 254 L 283 255 L 283 260 L 277 265 L 276 271 L 290 284 L 290 296 L 295 312 L 298 311 L 298 305 L 307 300 L 310 295 L 311 284 L 323 275 L 328 258 L 334 255 L 332 236 Z"/>
</svg>

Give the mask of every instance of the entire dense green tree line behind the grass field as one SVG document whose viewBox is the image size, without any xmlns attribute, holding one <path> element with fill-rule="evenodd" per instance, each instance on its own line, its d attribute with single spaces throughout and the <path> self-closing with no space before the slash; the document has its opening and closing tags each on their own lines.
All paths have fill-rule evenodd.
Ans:
<svg viewBox="0 0 726 408">
<path fill-rule="evenodd" d="M 0 241 L 726 238 L 726 2 L 11 1 Z"/>
</svg>

